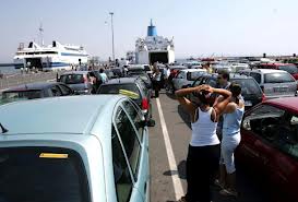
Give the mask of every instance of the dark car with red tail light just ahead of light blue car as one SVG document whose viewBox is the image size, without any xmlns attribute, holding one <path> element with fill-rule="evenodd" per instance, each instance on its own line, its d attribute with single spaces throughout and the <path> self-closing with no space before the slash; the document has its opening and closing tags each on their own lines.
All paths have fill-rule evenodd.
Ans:
<svg viewBox="0 0 298 202">
<path fill-rule="evenodd" d="M 100 85 L 97 94 L 122 94 L 129 96 L 142 109 L 146 120 L 152 119 L 152 91 L 140 78 L 119 78 Z"/>
</svg>

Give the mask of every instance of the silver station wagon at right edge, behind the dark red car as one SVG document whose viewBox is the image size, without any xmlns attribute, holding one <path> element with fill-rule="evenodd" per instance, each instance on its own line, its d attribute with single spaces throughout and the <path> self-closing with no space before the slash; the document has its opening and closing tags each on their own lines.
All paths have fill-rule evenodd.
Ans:
<svg viewBox="0 0 298 202">
<path fill-rule="evenodd" d="M 297 95 L 297 83 L 293 75 L 283 70 L 250 69 L 239 71 L 252 76 L 261 86 L 266 98 L 289 97 Z"/>
</svg>

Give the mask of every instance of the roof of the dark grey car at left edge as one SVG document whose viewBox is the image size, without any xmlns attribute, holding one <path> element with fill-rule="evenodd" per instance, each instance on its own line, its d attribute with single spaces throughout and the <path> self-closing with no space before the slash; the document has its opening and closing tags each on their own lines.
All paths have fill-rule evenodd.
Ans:
<svg viewBox="0 0 298 202">
<path fill-rule="evenodd" d="M 15 92 L 15 91 L 31 91 L 31 90 L 44 90 L 44 88 L 48 88 L 51 87 L 56 84 L 61 84 L 60 82 L 36 82 L 36 83 L 28 83 L 28 84 L 22 84 L 22 85 L 17 85 L 15 87 L 10 87 L 4 92 Z"/>
</svg>

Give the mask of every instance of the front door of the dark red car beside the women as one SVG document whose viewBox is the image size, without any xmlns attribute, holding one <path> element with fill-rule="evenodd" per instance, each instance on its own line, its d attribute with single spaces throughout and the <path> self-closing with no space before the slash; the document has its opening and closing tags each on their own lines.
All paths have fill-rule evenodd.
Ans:
<svg viewBox="0 0 298 202">
<path fill-rule="evenodd" d="M 273 142 L 284 114 L 282 109 L 263 104 L 249 111 L 242 121 L 241 157 L 267 177 L 273 169 L 271 158 L 276 154 Z"/>
</svg>

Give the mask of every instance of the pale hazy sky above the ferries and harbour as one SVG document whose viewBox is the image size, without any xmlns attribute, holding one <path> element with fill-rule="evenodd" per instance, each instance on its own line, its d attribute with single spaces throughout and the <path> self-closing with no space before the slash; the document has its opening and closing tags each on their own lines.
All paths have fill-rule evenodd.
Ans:
<svg viewBox="0 0 298 202">
<path fill-rule="evenodd" d="M 110 11 L 117 58 L 134 50 L 151 19 L 158 35 L 175 37 L 176 58 L 298 54 L 297 8 L 297 0 L 5 0 L 0 62 L 12 61 L 19 43 L 37 40 L 40 22 L 46 44 L 83 45 L 107 59 Z"/>
</svg>

